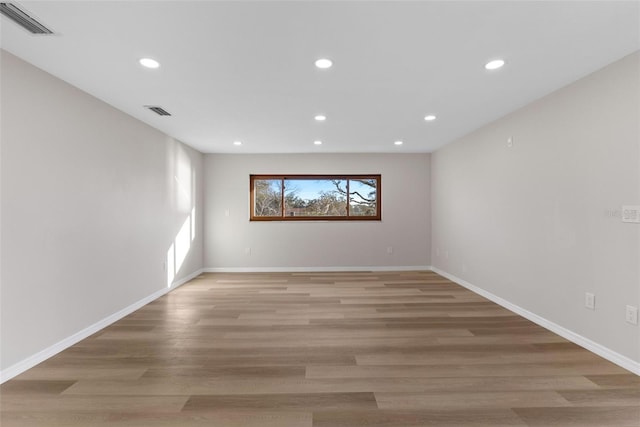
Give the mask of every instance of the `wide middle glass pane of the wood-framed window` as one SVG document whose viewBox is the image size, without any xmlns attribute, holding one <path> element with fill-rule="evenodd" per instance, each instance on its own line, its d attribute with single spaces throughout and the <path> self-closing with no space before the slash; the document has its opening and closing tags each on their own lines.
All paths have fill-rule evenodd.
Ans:
<svg viewBox="0 0 640 427">
<path fill-rule="evenodd" d="M 285 216 L 346 216 L 346 186 L 339 179 L 287 179 Z"/>
</svg>

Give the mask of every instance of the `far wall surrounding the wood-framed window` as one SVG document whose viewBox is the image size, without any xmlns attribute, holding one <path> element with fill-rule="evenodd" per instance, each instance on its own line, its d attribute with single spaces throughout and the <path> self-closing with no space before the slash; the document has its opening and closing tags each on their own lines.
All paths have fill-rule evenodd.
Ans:
<svg viewBox="0 0 640 427">
<path fill-rule="evenodd" d="M 428 154 L 207 154 L 205 267 L 429 266 L 429 162 Z M 249 221 L 250 174 L 377 173 L 382 174 L 381 222 Z M 388 247 L 393 253 L 387 253 Z"/>
</svg>

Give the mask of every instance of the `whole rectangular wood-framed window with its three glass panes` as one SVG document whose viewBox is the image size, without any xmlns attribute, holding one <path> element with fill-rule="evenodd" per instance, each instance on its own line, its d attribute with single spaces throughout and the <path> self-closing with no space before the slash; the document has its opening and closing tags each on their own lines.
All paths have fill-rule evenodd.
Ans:
<svg viewBox="0 0 640 427">
<path fill-rule="evenodd" d="M 251 175 L 251 221 L 379 221 L 380 175 Z"/>
</svg>

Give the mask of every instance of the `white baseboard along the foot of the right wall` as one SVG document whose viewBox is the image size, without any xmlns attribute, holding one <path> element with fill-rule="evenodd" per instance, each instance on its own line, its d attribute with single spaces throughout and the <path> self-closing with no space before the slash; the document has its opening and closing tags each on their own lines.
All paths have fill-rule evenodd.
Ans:
<svg viewBox="0 0 640 427">
<path fill-rule="evenodd" d="M 446 271 L 440 270 L 439 268 L 435 268 L 435 267 L 431 268 L 431 270 L 461 286 L 464 286 L 470 291 L 473 291 L 476 294 L 481 295 L 495 302 L 496 304 L 501 305 L 502 307 L 508 310 L 511 310 L 514 313 L 517 313 L 526 319 L 531 320 L 533 323 L 536 323 L 542 326 L 543 328 L 548 329 L 551 332 L 554 332 L 560 335 L 561 337 L 575 344 L 578 344 L 581 347 L 586 348 L 587 350 L 597 354 L 598 356 L 603 357 L 608 361 L 615 363 L 616 365 L 624 369 L 627 369 L 628 371 L 633 372 L 636 375 L 640 375 L 640 362 L 636 362 L 635 360 L 629 359 L 628 357 L 623 356 L 622 354 L 617 353 L 601 344 L 598 344 L 597 342 L 591 341 L 590 339 L 585 338 L 582 335 L 576 334 L 575 332 L 569 329 L 566 329 L 550 320 L 547 320 L 543 317 L 538 316 L 535 313 L 525 310 L 520 306 L 510 303 L 509 301 L 503 298 L 500 298 L 499 296 L 494 295 L 491 292 L 485 291 L 482 288 L 472 285 L 466 280 L 460 279 L 459 277 L 456 277 L 453 274 L 449 274 Z"/>
</svg>

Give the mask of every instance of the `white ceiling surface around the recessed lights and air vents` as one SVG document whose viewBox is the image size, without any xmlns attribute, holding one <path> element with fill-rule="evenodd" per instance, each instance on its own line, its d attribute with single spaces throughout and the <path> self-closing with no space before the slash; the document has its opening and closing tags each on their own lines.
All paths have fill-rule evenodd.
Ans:
<svg viewBox="0 0 640 427">
<path fill-rule="evenodd" d="M 205 153 L 431 152 L 640 49 L 638 1 L 16 4 L 56 35 L 3 49 Z"/>
</svg>

